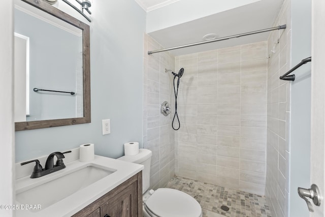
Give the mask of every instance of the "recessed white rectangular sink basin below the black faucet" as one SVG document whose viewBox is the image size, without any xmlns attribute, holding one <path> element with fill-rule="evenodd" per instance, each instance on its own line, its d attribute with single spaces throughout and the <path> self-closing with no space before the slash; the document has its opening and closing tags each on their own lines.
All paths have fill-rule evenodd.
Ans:
<svg viewBox="0 0 325 217">
<path fill-rule="evenodd" d="M 20 204 L 40 204 L 44 209 L 116 171 L 100 168 L 94 164 L 85 166 L 18 193 L 16 200 Z M 30 211 L 37 212 L 39 209 Z"/>
</svg>

